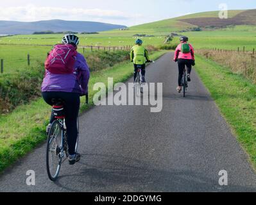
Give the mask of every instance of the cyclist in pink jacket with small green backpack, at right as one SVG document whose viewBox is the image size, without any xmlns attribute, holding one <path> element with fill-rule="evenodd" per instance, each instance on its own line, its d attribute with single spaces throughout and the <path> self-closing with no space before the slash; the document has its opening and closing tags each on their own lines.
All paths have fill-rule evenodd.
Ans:
<svg viewBox="0 0 256 205">
<path fill-rule="evenodd" d="M 191 69 L 194 63 L 194 48 L 187 43 L 188 37 L 180 37 L 180 44 L 176 47 L 173 61 L 178 61 L 178 92 L 182 91 L 182 76 L 185 66 L 187 66 L 187 81 L 191 81 Z"/>
</svg>

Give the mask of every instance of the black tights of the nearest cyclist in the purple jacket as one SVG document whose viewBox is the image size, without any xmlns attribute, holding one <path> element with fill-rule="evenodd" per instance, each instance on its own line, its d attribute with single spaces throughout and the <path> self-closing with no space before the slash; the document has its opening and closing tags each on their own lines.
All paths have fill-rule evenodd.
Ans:
<svg viewBox="0 0 256 205">
<path fill-rule="evenodd" d="M 75 154 L 76 140 L 78 129 L 76 126 L 78 112 L 80 108 L 80 94 L 69 92 L 42 92 L 44 101 L 53 105 L 51 99 L 63 99 L 65 101 L 65 124 L 67 126 L 67 144 L 69 145 L 69 154 Z M 53 113 L 51 114 L 50 123 L 54 121 Z"/>
</svg>

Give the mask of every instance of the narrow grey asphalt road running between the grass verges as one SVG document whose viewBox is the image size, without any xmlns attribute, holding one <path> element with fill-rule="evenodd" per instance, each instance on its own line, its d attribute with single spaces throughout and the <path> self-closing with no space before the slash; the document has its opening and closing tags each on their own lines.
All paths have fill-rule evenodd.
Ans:
<svg viewBox="0 0 256 205">
<path fill-rule="evenodd" d="M 171 57 L 147 68 L 148 82 L 163 83 L 160 113 L 151 106 L 94 107 L 80 117 L 79 163 L 65 162 L 58 181 L 49 181 L 43 144 L 0 176 L 0 191 L 255 192 L 246 154 L 196 73 L 187 97 L 176 92 Z M 35 170 L 35 186 L 26 184 L 27 170 Z M 228 186 L 219 185 L 220 170 Z"/>
</svg>

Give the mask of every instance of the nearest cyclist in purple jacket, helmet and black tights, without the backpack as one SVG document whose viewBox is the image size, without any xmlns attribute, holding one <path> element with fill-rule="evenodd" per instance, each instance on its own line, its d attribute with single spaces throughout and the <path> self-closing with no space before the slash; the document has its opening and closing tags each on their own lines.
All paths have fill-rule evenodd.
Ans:
<svg viewBox="0 0 256 205">
<path fill-rule="evenodd" d="M 63 44 L 71 44 L 77 49 L 79 38 L 76 35 L 65 35 Z M 62 99 L 65 109 L 65 124 L 67 126 L 67 143 L 69 146 L 69 163 L 73 165 L 80 160 L 80 154 L 75 152 L 76 140 L 78 136 L 77 117 L 80 110 L 80 96 L 87 94 L 90 70 L 82 54 L 76 55 L 72 74 L 53 74 L 46 70 L 46 75 L 42 83 L 42 97 L 49 105 L 53 105 L 52 99 Z M 47 132 L 55 120 L 53 113 Z"/>
</svg>

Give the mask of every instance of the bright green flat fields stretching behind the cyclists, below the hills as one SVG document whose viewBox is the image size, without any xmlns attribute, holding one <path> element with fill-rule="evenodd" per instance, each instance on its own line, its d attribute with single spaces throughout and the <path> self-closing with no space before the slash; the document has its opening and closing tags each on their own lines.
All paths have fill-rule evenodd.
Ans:
<svg viewBox="0 0 256 205">
<path fill-rule="evenodd" d="M 144 25 L 146 28 L 146 25 Z M 81 45 L 94 46 L 126 46 L 133 45 L 136 33 L 147 33 L 148 29 L 144 26 L 128 31 L 108 31 L 98 35 L 80 35 Z M 157 29 L 157 28 L 155 28 Z M 155 30 L 154 29 L 154 30 Z M 167 28 L 166 32 L 155 37 L 141 37 L 144 45 L 163 45 L 167 33 L 171 33 Z M 157 31 L 152 31 L 157 32 Z M 256 49 L 256 26 L 235 26 L 235 28 L 220 29 L 217 31 L 191 31 L 178 33 L 189 37 L 189 42 L 195 49 L 212 47 L 218 49 L 237 50 L 237 47 L 246 51 Z M 4 59 L 4 72 L 13 72 L 17 69 L 24 69 L 27 62 L 27 55 L 30 54 L 31 67 L 37 65 L 38 61 L 43 62 L 46 58 L 46 53 L 51 50 L 52 46 L 37 46 L 54 45 L 60 43 L 62 35 L 17 35 L 13 37 L 0 38 L 0 58 Z M 31 40 L 28 40 L 31 39 Z M 173 43 L 178 43 L 178 37 L 175 37 Z M 1 45 L 8 44 L 8 45 Z M 28 45 L 12 45 L 12 44 L 28 44 Z M 80 53 L 82 49 L 78 49 Z M 89 49 L 86 50 L 90 52 Z"/>
</svg>

